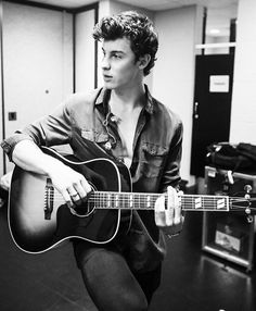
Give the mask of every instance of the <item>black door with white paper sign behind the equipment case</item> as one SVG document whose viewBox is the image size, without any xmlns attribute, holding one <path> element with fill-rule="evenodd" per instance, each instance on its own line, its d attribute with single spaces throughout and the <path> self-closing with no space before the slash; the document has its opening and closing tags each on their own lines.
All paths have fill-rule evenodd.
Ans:
<svg viewBox="0 0 256 311">
<path fill-rule="evenodd" d="M 191 150 L 191 175 L 204 176 L 207 146 L 228 141 L 233 54 L 197 55 Z"/>
</svg>

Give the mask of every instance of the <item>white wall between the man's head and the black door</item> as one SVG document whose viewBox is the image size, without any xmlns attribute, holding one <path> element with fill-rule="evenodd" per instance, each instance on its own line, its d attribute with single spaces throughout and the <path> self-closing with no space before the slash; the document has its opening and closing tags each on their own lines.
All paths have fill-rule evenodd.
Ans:
<svg viewBox="0 0 256 311">
<path fill-rule="evenodd" d="M 168 10 L 155 14 L 159 51 L 153 73 L 153 96 L 182 119 L 184 136 L 181 177 L 187 181 L 191 181 L 195 43 L 200 42 L 202 17 L 203 10 L 197 7 Z"/>
</svg>

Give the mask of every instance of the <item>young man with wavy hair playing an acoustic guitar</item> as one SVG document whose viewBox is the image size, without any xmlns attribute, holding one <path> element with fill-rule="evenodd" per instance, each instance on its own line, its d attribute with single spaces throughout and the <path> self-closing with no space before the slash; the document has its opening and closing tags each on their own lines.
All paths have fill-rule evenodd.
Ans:
<svg viewBox="0 0 256 311">
<path fill-rule="evenodd" d="M 104 87 L 73 95 L 2 147 L 16 165 L 49 175 L 68 207 L 85 200 L 91 186 L 38 146 L 69 144 L 81 161 L 105 154 L 127 165 L 133 192 L 168 192 L 169 200 L 159 195 L 153 212 L 133 212 L 132 217 L 124 213 L 118 234 L 108 244 L 74 240 L 85 285 L 99 310 L 146 310 L 159 285 L 163 233 L 176 235 L 183 223 L 176 191 L 182 124 L 143 84 L 158 48 L 146 16 L 132 11 L 104 17 L 93 37 L 102 41 Z"/>
</svg>

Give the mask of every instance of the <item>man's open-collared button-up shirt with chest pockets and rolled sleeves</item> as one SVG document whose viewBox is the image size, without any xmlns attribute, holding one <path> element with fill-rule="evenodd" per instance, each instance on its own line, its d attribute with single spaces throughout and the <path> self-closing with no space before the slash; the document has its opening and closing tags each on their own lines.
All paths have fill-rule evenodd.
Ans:
<svg viewBox="0 0 256 311">
<path fill-rule="evenodd" d="M 177 187 L 180 181 L 182 123 L 180 119 L 152 98 L 148 87 L 146 103 L 142 109 L 133 139 L 133 158 L 129 167 L 132 191 L 164 192 L 168 185 Z M 106 152 L 123 161 L 121 139 L 117 123 L 110 111 L 111 90 L 99 88 L 91 94 L 76 94 L 53 113 L 17 130 L 1 146 L 12 160 L 15 145 L 31 139 L 38 146 L 69 144 L 81 161 L 102 157 Z M 158 239 L 154 213 L 141 212 L 141 219 L 152 237 Z"/>
</svg>

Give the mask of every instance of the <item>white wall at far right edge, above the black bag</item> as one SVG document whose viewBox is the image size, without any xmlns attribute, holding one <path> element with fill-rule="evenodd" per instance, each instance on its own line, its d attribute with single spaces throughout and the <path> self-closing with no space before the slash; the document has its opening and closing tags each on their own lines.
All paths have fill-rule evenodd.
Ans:
<svg viewBox="0 0 256 311">
<path fill-rule="evenodd" d="M 230 141 L 256 145 L 256 1 L 240 0 Z"/>
</svg>

